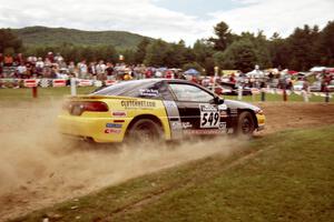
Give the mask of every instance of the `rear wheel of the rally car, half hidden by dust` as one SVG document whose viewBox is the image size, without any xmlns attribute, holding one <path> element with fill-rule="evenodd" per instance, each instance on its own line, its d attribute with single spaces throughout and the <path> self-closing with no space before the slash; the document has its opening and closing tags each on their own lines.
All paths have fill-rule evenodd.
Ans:
<svg viewBox="0 0 334 222">
<path fill-rule="evenodd" d="M 127 132 L 126 141 L 129 142 L 151 142 L 163 139 L 163 130 L 160 124 L 150 119 L 139 119 Z"/>
</svg>

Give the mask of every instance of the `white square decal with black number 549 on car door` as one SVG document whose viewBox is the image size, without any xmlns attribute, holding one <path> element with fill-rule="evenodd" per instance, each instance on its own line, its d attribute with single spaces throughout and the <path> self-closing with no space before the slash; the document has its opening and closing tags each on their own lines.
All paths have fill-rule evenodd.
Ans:
<svg viewBox="0 0 334 222">
<path fill-rule="evenodd" d="M 219 128 L 219 112 L 213 105 L 199 105 L 200 109 L 200 128 Z"/>
</svg>

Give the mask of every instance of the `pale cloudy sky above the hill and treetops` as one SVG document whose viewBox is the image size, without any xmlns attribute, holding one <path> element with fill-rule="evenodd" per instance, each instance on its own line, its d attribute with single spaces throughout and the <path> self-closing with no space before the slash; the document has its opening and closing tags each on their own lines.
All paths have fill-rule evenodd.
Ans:
<svg viewBox="0 0 334 222">
<path fill-rule="evenodd" d="M 334 20 L 334 0 L 0 0 L 0 27 L 130 31 L 193 44 L 225 21 L 233 32 L 277 31 Z"/>
</svg>

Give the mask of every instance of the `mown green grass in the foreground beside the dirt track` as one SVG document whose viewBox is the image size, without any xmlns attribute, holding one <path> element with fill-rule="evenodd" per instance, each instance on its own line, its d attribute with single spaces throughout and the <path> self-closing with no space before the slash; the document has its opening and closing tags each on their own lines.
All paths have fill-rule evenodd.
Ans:
<svg viewBox="0 0 334 222">
<path fill-rule="evenodd" d="M 13 221 L 333 221 L 333 125 L 279 132 Z"/>
</svg>

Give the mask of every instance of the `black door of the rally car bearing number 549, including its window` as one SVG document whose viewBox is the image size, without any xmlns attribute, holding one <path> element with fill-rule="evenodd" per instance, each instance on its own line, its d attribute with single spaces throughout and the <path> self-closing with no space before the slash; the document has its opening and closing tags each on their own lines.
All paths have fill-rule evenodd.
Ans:
<svg viewBox="0 0 334 222">
<path fill-rule="evenodd" d="M 218 104 L 215 97 L 206 90 L 190 83 L 169 83 L 175 95 L 184 132 L 210 134 L 222 128 Z"/>
</svg>

